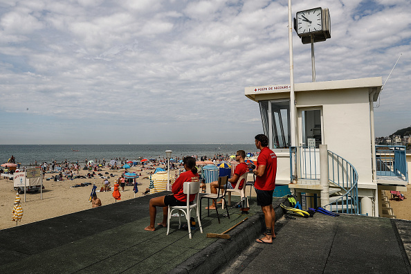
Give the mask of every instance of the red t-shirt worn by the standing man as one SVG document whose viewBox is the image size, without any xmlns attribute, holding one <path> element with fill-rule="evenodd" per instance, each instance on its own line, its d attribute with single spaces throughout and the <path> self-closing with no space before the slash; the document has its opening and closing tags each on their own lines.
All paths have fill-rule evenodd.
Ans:
<svg viewBox="0 0 411 274">
<path fill-rule="evenodd" d="M 263 147 L 257 158 L 257 169 L 259 165 L 265 165 L 266 170 L 263 176 L 255 179 L 255 188 L 257 190 L 274 190 L 275 175 L 277 174 L 277 156 L 268 147 Z"/>
</svg>

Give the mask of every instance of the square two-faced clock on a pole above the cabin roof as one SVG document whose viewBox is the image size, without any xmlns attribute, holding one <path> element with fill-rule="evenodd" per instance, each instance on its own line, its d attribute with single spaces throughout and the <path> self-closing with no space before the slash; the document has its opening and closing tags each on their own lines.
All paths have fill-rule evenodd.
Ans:
<svg viewBox="0 0 411 274">
<path fill-rule="evenodd" d="M 302 44 L 325 41 L 331 38 L 331 20 L 328 8 L 311 8 L 297 12 L 294 29 Z"/>
</svg>

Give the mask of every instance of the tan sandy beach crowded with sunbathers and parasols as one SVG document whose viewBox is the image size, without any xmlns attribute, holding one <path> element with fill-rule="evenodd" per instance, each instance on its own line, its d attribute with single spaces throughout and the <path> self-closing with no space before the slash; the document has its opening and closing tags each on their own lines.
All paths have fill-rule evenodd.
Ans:
<svg viewBox="0 0 411 274">
<path fill-rule="evenodd" d="M 141 173 L 137 181 L 141 183 L 138 185 L 138 193 L 136 197 L 143 196 L 146 188 L 149 187 L 149 172 L 154 170 L 140 171 L 140 167 L 131 167 L 129 172 Z M 114 181 L 121 176 L 124 170 L 109 170 L 108 167 L 103 167 L 102 171 L 95 172 L 96 174 L 105 172 L 113 174 L 113 177 L 109 179 L 111 185 Z M 172 170 L 171 172 L 175 172 Z M 86 175 L 88 171 L 80 170 L 79 175 Z M 64 181 L 46 181 L 46 178 L 50 178 L 57 173 L 47 173 L 44 177 L 43 184 L 45 189 L 43 190 L 43 199 L 40 199 L 40 192 L 30 192 L 26 194 L 26 203 L 24 203 L 24 194 L 19 194 L 21 197 L 21 207 L 24 210 L 23 218 L 19 222 L 19 226 L 26 223 L 32 223 L 34 221 L 40 221 L 49 219 L 64 214 L 70 214 L 81 210 L 91 210 L 91 202 L 89 197 L 91 194 L 92 185 L 88 185 L 80 188 L 71 188 L 71 186 L 80 183 L 95 183 L 97 189 L 100 190 L 103 179 L 100 176 L 94 176 L 91 179 L 66 179 Z M 77 175 L 77 174 L 75 174 Z M 121 190 L 121 188 L 120 188 Z M 120 192 L 121 200 L 125 201 L 134 198 L 133 186 L 125 186 L 125 191 Z M 12 208 L 14 199 L 16 197 L 16 191 L 13 190 L 13 181 L 7 179 L 0 179 L 0 229 L 11 228 L 16 226 L 15 221 L 11 221 Z M 110 203 L 115 203 L 116 200 L 112 196 L 112 192 L 97 192 L 97 197 L 102 201 L 102 206 Z M 147 216 L 148 216 L 147 205 Z"/>
</svg>

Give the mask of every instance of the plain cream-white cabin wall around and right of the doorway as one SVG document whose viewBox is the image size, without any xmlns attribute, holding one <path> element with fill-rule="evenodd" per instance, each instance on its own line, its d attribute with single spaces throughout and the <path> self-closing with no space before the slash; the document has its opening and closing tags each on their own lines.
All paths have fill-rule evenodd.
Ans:
<svg viewBox="0 0 411 274">
<path fill-rule="evenodd" d="M 368 89 L 297 93 L 297 107 L 322 107 L 323 143 L 351 163 L 358 183 L 372 183 Z"/>
</svg>

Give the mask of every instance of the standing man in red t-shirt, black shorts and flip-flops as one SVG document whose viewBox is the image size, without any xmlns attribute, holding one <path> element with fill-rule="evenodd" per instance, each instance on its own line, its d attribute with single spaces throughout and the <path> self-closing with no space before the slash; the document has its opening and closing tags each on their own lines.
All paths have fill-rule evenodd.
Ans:
<svg viewBox="0 0 411 274">
<path fill-rule="evenodd" d="M 277 156 L 268 148 L 268 138 L 264 134 L 255 136 L 255 147 L 261 152 L 257 158 L 257 167 L 253 170 L 256 176 L 254 187 L 257 192 L 257 205 L 261 206 L 266 222 L 265 236 L 255 241 L 259 244 L 273 244 L 273 239 L 275 239 L 273 192 L 277 174 Z"/>
</svg>

